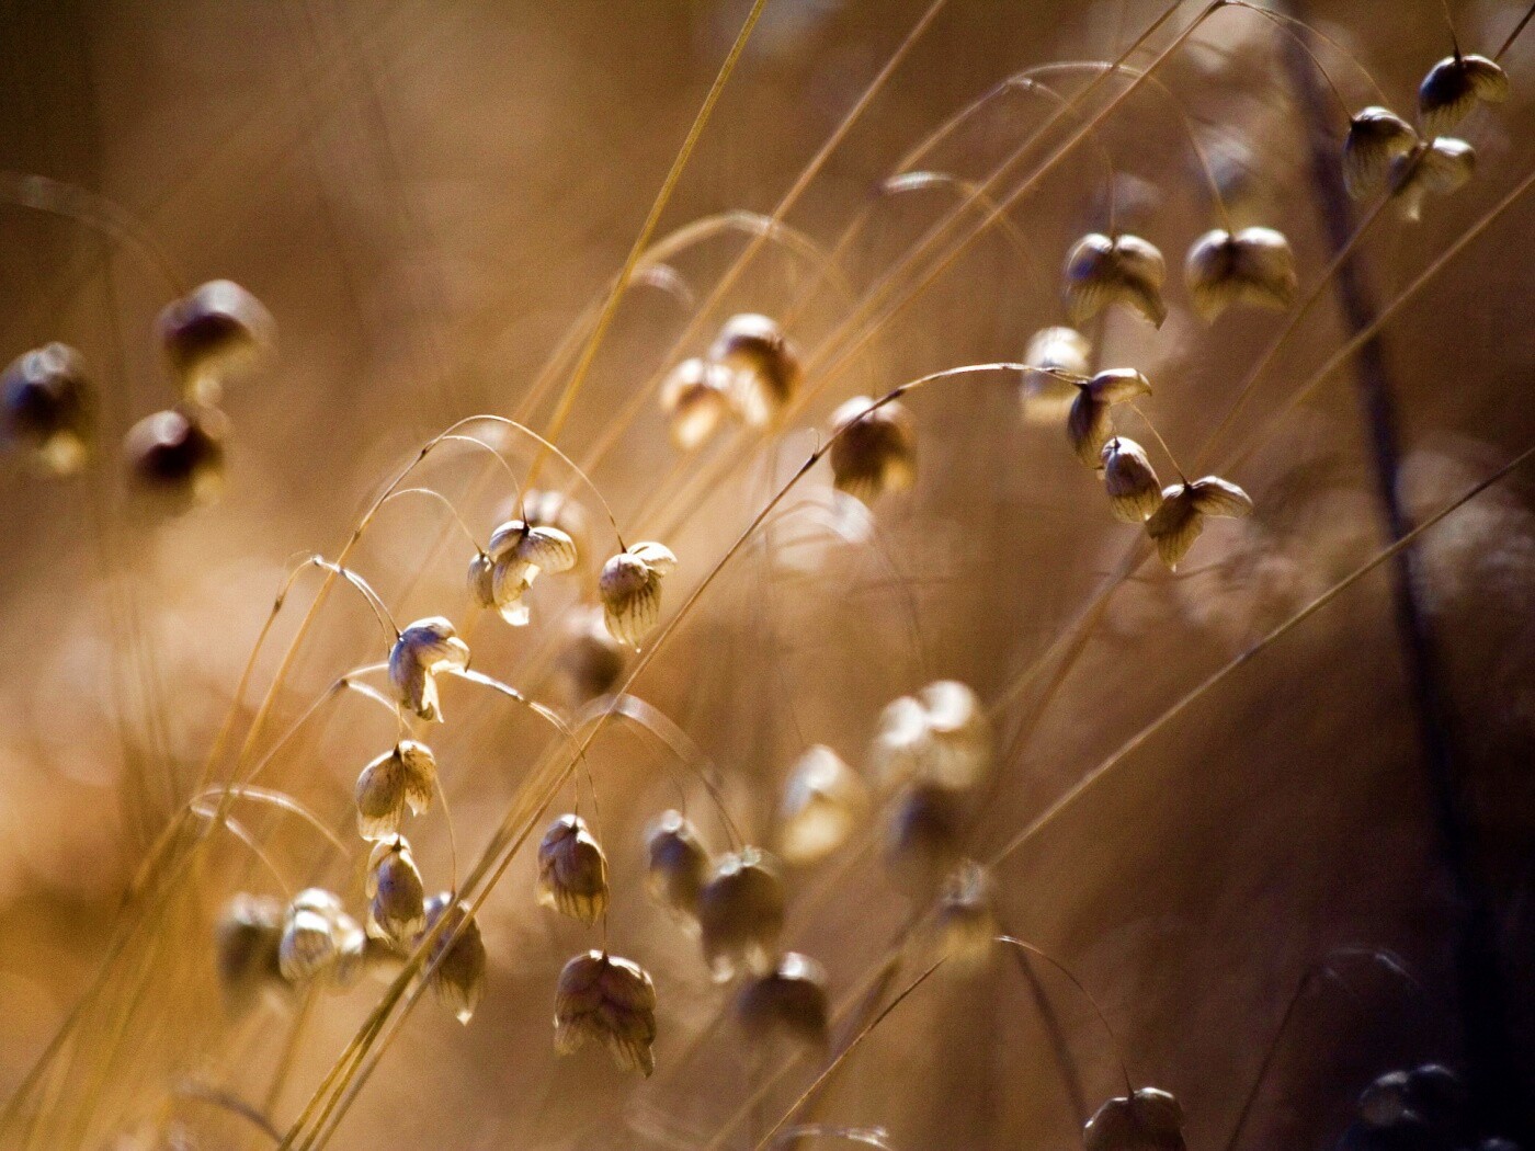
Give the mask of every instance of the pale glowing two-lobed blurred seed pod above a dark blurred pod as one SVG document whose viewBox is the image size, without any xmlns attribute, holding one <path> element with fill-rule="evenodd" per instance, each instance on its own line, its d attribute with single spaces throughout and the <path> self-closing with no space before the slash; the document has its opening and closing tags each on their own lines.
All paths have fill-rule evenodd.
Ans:
<svg viewBox="0 0 1535 1151">
<path fill-rule="evenodd" d="M 967 790 L 992 767 L 992 727 L 973 691 L 938 680 L 886 706 L 869 761 L 886 790 L 912 780 Z"/>
</svg>

